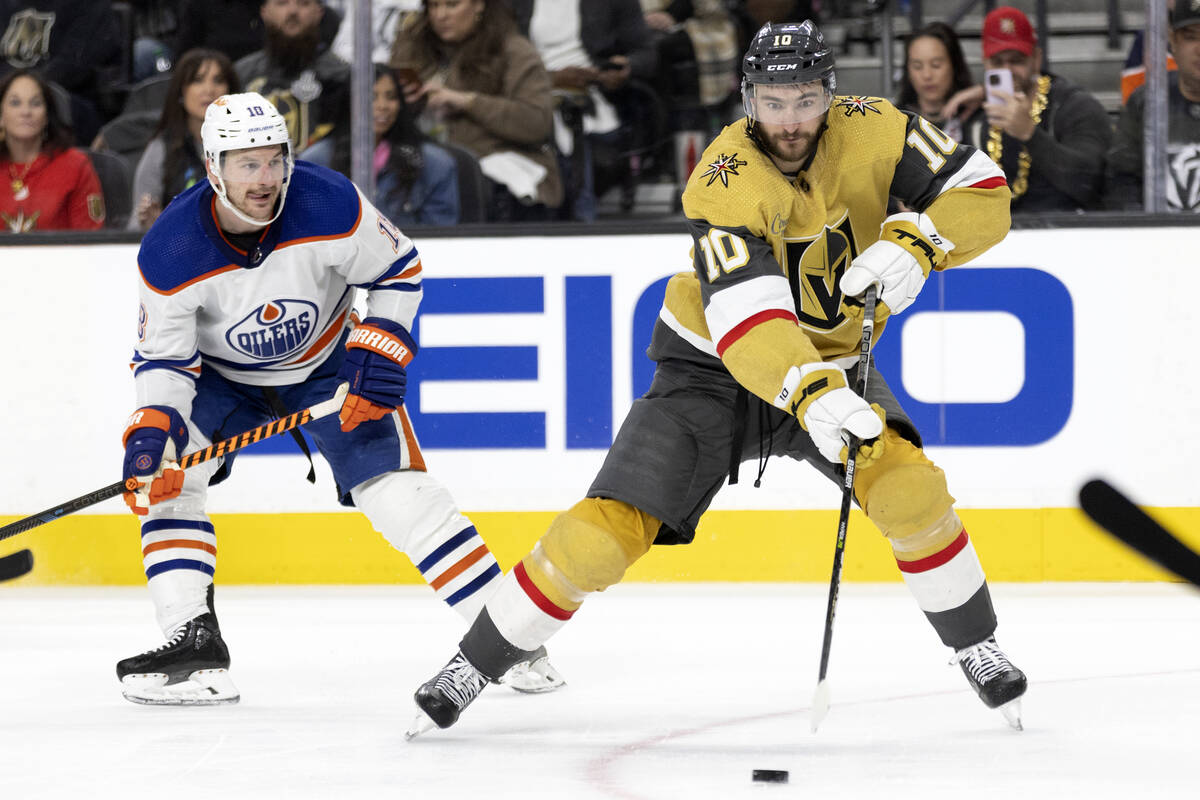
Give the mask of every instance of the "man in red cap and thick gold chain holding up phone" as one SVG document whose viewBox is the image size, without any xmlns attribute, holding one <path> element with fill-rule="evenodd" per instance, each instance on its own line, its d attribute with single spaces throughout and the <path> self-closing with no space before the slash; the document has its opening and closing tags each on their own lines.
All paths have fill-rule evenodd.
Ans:
<svg viewBox="0 0 1200 800">
<path fill-rule="evenodd" d="M 1098 207 L 1112 127 L 1099 101 L 1060 76 L 1042 72 L 1042 49 L 1028 18 L 1012 6 L 984 17 L 983 58 L 1009 70 L 1013 94 L 984 103 L 985 118 L 966 126 L 966 142 L 1000 164 L 1013 212 Z M 965 102 L 984 98 L 983 86 Z"/>
</svg>

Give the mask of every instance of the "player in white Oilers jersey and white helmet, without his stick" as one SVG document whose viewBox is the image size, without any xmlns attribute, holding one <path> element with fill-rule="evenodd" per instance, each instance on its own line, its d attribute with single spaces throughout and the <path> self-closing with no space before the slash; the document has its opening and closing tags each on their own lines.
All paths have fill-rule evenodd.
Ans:
<svg viewBox="0 0 1200 800">
<path fill-rule="evenodd" d="M 349 393 L 337 420 L 305 426 L 359 507 L 469 624 L 500 570 L 445 487 L 425 471 L 403 408 L 409 331 L 421 300 L 413 242 L 342 175 L 294 162 L 287 125 L 248 92 L 208 108 L 208 182 L 180 194 L 138 253 L 140 308 L 131 365 L 138 409 L 125 432 L 126 501 L 167 644 L 116 664 L 125 697 L 148 704 L 234 703 L 212 603 L 217 536 L 210 482 L 232 456 L 185 474 L 186 451 Z M 350 306 L 366 291 L 366 315 Z M 547 691 L 562 678 L 538 654 L 505 681 Z"/>
</svg>

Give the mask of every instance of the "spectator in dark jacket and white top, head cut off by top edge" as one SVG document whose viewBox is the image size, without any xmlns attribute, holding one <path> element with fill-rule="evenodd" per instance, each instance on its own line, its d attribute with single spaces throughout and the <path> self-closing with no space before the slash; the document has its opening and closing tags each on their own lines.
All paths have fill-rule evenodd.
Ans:
<svg viewBox="0 0 1200 800">
<path fill-rule="evenodd" d="M 622 155 L 640 131 L 652 128 L 654 103 L 630 89 L 635 78 L 653 82 L 658 65 L 642 7 L 638 0 L 512 0 L 512 12 L 550 71 L 560 110 L 568 112 L 568 119 L 560 113 L 556 131 L 570 186 L 564 212 L 594 221 L 596 197 L 629 178 Z M 575 108 L 568 109 L 572 96 Z M 572 110 L 582 115 L 574 136 Z M 571 157 L 577 144 L 582 151 Z M 656 143 L 642 144 L 649 150 Z"/>
</svg>

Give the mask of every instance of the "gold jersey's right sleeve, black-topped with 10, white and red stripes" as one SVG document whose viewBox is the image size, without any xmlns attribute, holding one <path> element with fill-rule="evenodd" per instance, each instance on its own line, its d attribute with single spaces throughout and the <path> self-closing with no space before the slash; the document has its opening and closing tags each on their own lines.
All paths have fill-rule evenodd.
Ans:
<svg viewBox="0 0 1200 800">
<path fill-rule="evenodd" d="M 934 221 L 954 249 L 937 269 L 965 264 L 1008 235 L 1012 194 L 991 158 L 948 137 L 924 118 L 907 116 L 890 193 Z"/>
</svg>

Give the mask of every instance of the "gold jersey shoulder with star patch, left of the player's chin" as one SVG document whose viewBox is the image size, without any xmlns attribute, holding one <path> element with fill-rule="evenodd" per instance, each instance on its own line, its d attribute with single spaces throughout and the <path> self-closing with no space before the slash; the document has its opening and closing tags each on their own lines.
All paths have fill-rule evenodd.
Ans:
<svg viewBox="0 0 1200 800">
<path fill-rule="evenodd" d="M 750 138 L 743 119 L 704 149 L 684 188 L 683 211 L 689 219 L 761 235 L 769 224 L 766 210 L 775 213 L 786 207 L 793 193 L 787 176 Z"/>
</svg>

